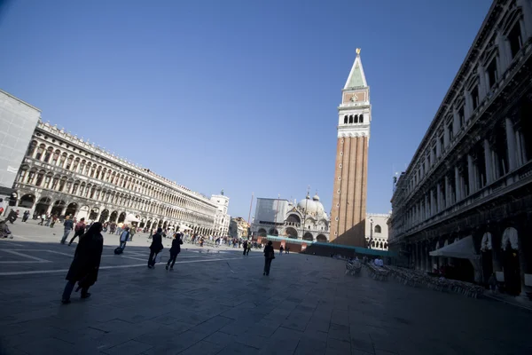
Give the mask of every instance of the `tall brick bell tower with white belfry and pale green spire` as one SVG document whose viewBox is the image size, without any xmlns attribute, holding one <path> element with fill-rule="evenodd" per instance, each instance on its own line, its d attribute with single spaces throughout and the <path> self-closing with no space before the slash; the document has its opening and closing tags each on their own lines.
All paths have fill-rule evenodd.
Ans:
<svg viewBox="0 0 532 355">
<path fill-rule="evenodd" d="M 338 142 L 332 192 L 330 241 L 365 247 L 364 225 L 370 143 L 370 88 L 366 83 L 360 49 L 338 107 Z"/>
</svg>

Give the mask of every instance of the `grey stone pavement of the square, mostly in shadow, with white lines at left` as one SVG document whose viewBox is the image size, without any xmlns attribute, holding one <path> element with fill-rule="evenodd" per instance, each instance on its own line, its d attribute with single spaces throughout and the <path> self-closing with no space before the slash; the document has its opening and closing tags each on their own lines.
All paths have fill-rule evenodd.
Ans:
<svg viewBox="0 0 532 355">
<path fill-rule="evenodd" d="M 1 354 L 530 354 L 532 312 L 362 273 L 337 260 L 184 244 L 146 267 L 146 236 L 106 246 L 92 297 L 59 303 L 74 245 L 61 226 L 0 241 Z M 56 235 L 53 235 L 55 233 Z M 169 240 L 164 241 L 163 262 Z M 201 252 L 200 252 L 201 251 Z"/>
</svg>

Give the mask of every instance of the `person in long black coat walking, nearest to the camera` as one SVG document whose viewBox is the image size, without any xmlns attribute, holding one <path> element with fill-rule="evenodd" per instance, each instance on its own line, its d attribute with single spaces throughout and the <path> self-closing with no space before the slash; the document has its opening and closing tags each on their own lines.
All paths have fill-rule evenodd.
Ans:
<svg viewBox="0 0 532 355">
<path fill-rule="evenodd" d="M 63 304 L 70 303 L 70 295 L 74 285 L 78 282 L 76 292 L 82 288 L 82 298 L 90 296 L 89 288 L 98 280 L 98 269 L 104 249 L 103 226 L 96 222 L 90 226 L 87 233 L 80 237 L 80 242 L 75 248 L 74 260 L 66 274 L 66 286 L 63 291 Z"/>
</svg>

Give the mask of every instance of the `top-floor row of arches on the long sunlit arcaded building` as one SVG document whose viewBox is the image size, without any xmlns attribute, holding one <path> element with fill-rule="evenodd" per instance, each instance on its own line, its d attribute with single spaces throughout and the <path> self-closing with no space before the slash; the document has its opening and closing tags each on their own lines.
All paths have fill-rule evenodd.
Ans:
<svg viewBox="0 0 532 355">
<path fill-rule="evenodd" d="M 106 166 L 98 164 L 97 162 L 90 162 L 90 160 L 75 157 L 74 154 L 62 152 L 60 149 L 56 149 L 53 146 L 46 146 L 44 143 L 39 145 L 36 140 L 30 142 L 27 148 L 27 157 L 40 162 L 46 162 L 52 166 L 76 174 L 92 177 L 102 182 L 128 189 L 134 193 L 145 194 L 154 199 L 168 202 L 179 207 L 207 212 L 207 207 L 200 201 L 191 201 L 190 199 L 184 198 L 184 195 L 180 195 L 179 193 L 170 193 L 157 185 L 147 183 L 136 177 L 130 177 L 120 171 L 108 169 Z"/>
</svg>

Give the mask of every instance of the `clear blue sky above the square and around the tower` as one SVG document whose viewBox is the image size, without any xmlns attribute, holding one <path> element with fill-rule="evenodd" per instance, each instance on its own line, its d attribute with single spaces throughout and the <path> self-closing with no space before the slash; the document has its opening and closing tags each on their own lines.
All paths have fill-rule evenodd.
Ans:
<svg viewBox="0 0 532 355">
<path fill-rule="evenodd" d="M 201 193 L 331 209 L 337 106 L 362 48 L 369 212 L 404 169 L 489 0 L 19 1 L 0 18 L 0 88 L 43 121 Z"/>
</svg>

